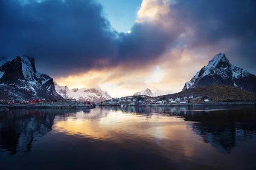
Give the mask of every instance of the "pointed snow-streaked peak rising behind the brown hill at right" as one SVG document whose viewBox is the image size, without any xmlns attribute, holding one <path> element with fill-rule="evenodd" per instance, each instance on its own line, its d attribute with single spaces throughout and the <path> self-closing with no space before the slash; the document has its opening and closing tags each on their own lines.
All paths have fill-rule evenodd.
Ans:
<svg viewBox="0 0 256 170">
<path fill-rule="evenodd" d="M 203 85 L 231 85 L 256 92 L 256 76 L 249 71 L 230 64 L 225 54 L 217 54 L 207 66 L 185 83 L 182 91 Z"/>
</svg>

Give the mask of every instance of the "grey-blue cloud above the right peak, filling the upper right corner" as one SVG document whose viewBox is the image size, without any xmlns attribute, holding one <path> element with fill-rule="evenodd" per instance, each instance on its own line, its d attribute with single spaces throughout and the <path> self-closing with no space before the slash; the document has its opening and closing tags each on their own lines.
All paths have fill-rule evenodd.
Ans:
<svg viewBox="0 0 256 170">
<path fill-rule="evenodd" d="M 227 56 L 256 73 L 255 0 L 178 0 L 170 8 L 195 32 L 189 40 L 192 48 L 236 41 Z"/>
</svg>

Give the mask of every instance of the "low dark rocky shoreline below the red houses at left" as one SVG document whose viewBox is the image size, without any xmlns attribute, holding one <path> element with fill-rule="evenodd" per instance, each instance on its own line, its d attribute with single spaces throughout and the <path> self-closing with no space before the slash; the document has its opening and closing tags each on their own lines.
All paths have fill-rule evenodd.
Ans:
<svg viewBox="0 0 256 170">
<path fill-rule="evenodd" d="M 16 104 L 16 105 L 1 105 L 0 111 L 6 111 L 10 109 L 90 109 L 95 108 L 92 105 L 84 105 L 77 102 L 55 102 L 55 103 L 37 103 L 37 104 Z"/>
</svg>

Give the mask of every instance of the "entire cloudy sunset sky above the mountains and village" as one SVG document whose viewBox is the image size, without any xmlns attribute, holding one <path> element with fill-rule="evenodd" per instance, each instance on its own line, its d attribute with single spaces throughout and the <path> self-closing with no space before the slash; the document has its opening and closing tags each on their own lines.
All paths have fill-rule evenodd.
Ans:
<svg viewBox="0 0 256 170">
<path fill-rule="evenodd" d="M 255 0 L 0 0 L 0 57 L 69 88 L 181 91 L 216 54 L 256 74 Z"/>
</svg>

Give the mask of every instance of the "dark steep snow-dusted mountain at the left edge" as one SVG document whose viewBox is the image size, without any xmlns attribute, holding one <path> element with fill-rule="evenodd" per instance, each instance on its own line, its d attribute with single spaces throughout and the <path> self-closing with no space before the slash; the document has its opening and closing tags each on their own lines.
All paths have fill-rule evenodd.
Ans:
<svg viewBox="0 0 256 170">
<path fill-rule="evenodd" d="M 53 79 L 35 69 L 34 58 L 17 56 L 13 59 L 0 59 L 0 98 L 62 99 L 56 93 Z"/>
</svg>

